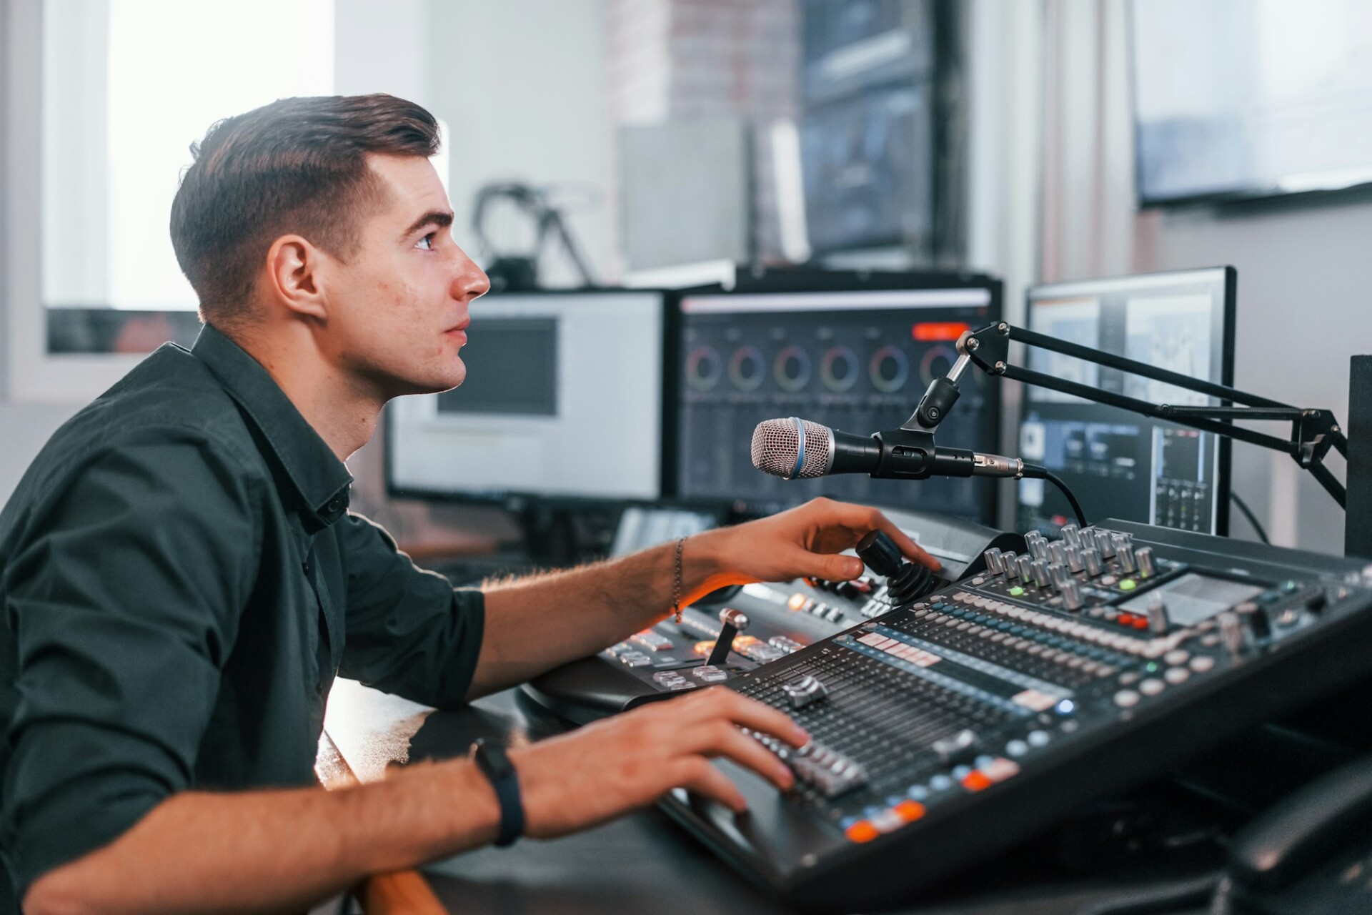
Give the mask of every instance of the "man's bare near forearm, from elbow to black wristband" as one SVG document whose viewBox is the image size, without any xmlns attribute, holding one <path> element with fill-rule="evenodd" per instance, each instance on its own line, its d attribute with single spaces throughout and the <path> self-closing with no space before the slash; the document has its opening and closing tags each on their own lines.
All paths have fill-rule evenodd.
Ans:
<svg viewBox="0 0 1372 915">
<path fill-rule="evenodd" d="M 499 807 L 466 761 L 338 792 L 187 792 L 41 877 L 25 912 L 300 911 L 380 874 L 491 841 Z"/>
</svg>

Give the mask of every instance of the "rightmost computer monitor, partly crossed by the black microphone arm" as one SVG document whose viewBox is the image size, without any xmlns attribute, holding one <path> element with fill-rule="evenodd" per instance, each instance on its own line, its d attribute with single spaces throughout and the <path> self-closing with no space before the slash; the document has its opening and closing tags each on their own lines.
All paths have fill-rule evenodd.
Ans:
<svg viewBox="0 0 1372 915">
<path fill-rule="evenodd" d="M 1233 383 L 1233 268 L 1030 287 L 1026 324 L 1059 340 L 1191 377 Z M 1152 403 L 1211 398 L 1072 357 L 1029 348 L 1029 366 Z M 1088 520 L 1117 517 L 1227 534 L 1229 440 L 1118 407 L 1025 385 L 1019 457 L 1045 465 Z M 1072 520 L 1043 480 L 1021 480 L 1017 525 L 1054 532 Z"/>
</svg>

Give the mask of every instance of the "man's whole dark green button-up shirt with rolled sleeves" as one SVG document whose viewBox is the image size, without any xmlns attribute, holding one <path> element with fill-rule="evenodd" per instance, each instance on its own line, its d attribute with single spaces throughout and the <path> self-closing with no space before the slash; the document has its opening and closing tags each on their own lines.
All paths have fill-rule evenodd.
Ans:
<svg viewBox="0 0 1372 915">
<path fill-rule="evenodd" d="M 211 326 L 52 436 L 0 513 L 0 905 L 174 792 L 311 785 L 335 674 L 464 701 L 480 591 L 350 483 Z"/>
</svg>

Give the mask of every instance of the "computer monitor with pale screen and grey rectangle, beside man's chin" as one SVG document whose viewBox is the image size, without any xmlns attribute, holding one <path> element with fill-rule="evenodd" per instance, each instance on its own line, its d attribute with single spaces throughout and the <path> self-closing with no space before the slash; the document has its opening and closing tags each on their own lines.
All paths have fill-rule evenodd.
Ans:
<svg viewBox="0 0 1372 915">
<path fill-rule="evenodd" d="M 508 502 L 663 494 L 667 294 L 506 292 L 472 305 L 466 380 L 388 407 L 397 495 Z"/>
</svg>

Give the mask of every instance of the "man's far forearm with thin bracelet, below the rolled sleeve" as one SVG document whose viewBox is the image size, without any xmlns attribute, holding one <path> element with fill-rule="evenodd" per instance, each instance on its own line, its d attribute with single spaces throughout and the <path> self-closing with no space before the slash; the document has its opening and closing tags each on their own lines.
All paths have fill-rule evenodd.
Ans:
<svg viewBox="0 0 1372 915">
<path fill-rule="evenodd" d="M 734 579 L 724 572 L 719 531 L 690 538 L 682 551 L 682 605 Z M 676 543 L 565 572 L 483 587 L 486 635 L 472 697 L 594 654 L 671 612 Z"/>
</svg>

